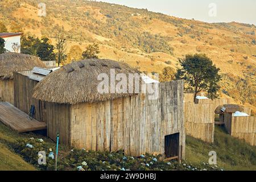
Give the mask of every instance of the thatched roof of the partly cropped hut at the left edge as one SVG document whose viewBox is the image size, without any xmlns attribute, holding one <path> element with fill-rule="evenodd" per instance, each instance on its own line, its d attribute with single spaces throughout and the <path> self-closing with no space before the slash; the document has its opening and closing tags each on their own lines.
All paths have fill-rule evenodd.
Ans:
<svg viewBox="0 0 256 182">
<path fill-rule="evenodd" d="M 13 79 L 13 72 L 30 70 L 34 67 L 45 68 L 46 65 L 38 57 L 23 53 L 0 54 L 0 79 Z"/>
</svg>

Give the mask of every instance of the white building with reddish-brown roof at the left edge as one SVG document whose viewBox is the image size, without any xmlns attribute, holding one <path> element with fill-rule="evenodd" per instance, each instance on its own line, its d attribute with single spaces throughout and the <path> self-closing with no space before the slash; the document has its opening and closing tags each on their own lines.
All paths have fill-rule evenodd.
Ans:
<svg viewBox="0 0 256 182">
<path fill-rule="evenodd" d="M 20 53 L 20 36 L 22 33 L 0 33 L 0 38 L 5 40 L 5 49 L 8 52 Z"/>
</svg>

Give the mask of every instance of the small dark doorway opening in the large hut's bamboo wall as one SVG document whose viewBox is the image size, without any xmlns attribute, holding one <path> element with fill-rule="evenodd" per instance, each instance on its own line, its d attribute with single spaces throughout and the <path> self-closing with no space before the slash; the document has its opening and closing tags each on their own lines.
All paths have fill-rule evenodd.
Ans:
<svg viewBox="0 0 256 182">
<path fill-rule="evenodd" d="M 179 133 L 164 137 L 164 155 L 167 159 L 179 159 Z"/>
</svg>

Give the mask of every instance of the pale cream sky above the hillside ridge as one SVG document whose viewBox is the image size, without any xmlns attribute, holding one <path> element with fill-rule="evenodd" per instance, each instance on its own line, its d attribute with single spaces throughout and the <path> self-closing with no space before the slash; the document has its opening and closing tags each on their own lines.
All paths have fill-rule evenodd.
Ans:
<svg viewBox="0 0 256 182">
<path fill-rule="evenodd" d="M 203 22 L 256 25 L 256 0 L 101 0 Z"/>
</svg>

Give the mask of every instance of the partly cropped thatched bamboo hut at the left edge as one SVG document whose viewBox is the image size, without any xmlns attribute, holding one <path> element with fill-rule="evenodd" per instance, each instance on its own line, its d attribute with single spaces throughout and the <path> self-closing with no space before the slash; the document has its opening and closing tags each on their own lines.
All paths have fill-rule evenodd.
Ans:
<svg viewBox="0 0 256 182">
<path fill-rule="evenodd" d="M 38 57 L 22 53 L 3 53 L 0 55 L 0 101 L 14 105 L 13 72 L 46 67 Z"/>
</svg>

